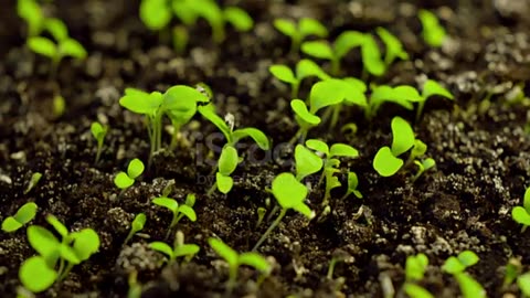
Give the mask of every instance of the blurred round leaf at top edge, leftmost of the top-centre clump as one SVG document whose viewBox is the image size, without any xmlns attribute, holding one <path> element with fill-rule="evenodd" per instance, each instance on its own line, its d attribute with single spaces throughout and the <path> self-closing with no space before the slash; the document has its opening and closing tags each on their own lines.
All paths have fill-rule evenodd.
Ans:
<svg viewBox="0 0 530 298">
<path fill-rule="evenodd" d="M 166 0 L 142 0 L 140 3 L 140 19 L 149 30 L 159 31 L 169 24 L 171 10 Z"/>
</svg>

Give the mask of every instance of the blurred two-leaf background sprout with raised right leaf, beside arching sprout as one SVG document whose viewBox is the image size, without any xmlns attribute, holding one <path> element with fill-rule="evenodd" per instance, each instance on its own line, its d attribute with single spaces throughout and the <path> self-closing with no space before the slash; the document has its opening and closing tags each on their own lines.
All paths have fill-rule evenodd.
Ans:
<svg viewBox="0 0 530 298">
<path fill-rule="evenodd" d="M 365 41 L 365 35 L 357 31 L 344 31 L 330 45 L 327 41 L 309 41 L 301 44 L 301 52 L 307 55 L 329 60 L 331 63 L 331 75 L 338 76 L 340 73 L 340 60 L 353 47 L 361 46 Z M 379 51 L 378 51 L 379 52 Z M 369 54 L 367 52 L 367 54 Z"/>
</svg>

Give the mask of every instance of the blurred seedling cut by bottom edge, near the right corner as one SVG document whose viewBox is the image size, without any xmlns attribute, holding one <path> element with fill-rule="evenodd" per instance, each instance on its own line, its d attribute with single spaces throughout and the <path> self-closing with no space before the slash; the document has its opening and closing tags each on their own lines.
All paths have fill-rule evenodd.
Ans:
<svg viewBox="0 0 530 298">
<path fill-rule="evenodd" d="M 445 273 L 456 278 L 464 298 L 486 297 L 486 290 L 483 286 L 465 272 L 468 267 L 477 264 L 478 260 L 479 257 L 474 252 L 465 251 L 456 257 L 451 256 L 442 266 Z"/>
</svg>

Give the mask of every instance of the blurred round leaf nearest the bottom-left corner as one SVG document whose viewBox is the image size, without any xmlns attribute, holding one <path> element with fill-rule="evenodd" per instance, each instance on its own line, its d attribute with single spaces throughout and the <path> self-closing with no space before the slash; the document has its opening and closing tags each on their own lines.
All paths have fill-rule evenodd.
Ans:
<svg viewBox="0 0 530 298">
<path fill-rule="evenodd" d="M 22 263 L 19 269 L 19 278 L 24 288 L 32 292 L 41 292 L 55 283 L 57 273 L 47 267 L 43 257 L 32 256 Z"/>
</svg>

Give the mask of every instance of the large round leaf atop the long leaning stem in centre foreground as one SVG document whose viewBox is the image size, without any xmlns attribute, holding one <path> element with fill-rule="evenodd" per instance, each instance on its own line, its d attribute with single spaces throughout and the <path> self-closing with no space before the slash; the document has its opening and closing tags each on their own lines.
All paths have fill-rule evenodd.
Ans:
<svg viewBox="0 0 530 298">
<path fill-rule="evenodd" d="M 278 174 L 273 180 L 272 189 L 274 198 L 283 209 L 294 209 L 304 204 L 307 196 L 307 188 L 288 172 Z"/>
</svg>

